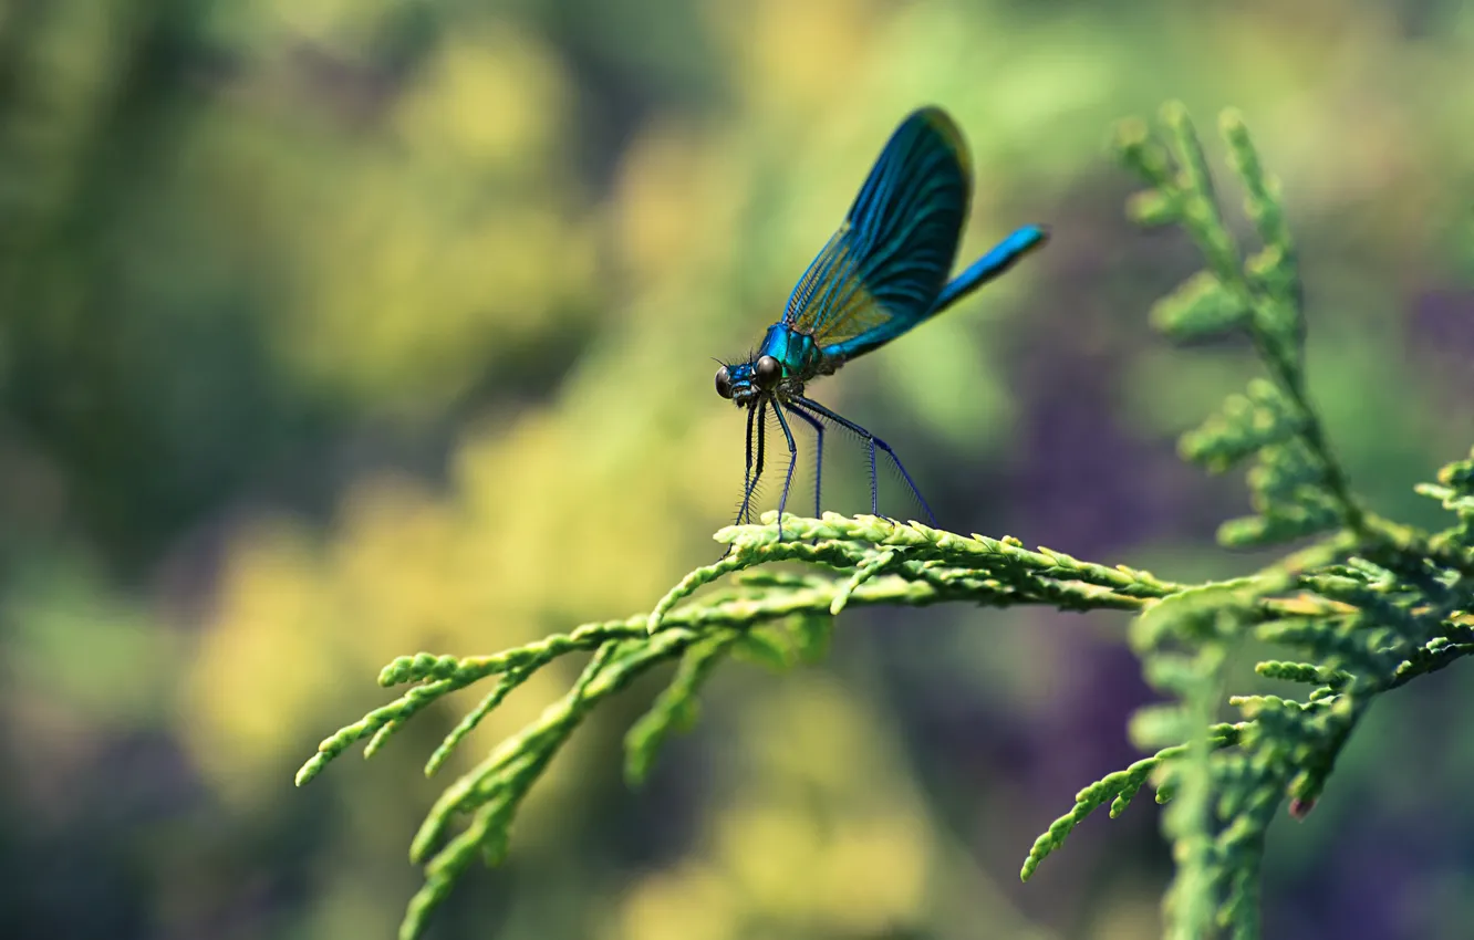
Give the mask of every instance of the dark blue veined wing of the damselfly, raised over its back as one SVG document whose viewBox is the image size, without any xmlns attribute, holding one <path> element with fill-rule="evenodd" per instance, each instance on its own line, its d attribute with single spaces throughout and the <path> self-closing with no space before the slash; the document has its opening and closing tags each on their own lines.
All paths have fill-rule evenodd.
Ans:
<svg viewBox="0 0 1474 940">
<path fill-rule="evenodd" d="M 939 108 L 912 112 L 793 289 L 784 323 L 846 358 L 909 330 L 946 284 L 971 189 L 952 119 Z"/>
</svg>

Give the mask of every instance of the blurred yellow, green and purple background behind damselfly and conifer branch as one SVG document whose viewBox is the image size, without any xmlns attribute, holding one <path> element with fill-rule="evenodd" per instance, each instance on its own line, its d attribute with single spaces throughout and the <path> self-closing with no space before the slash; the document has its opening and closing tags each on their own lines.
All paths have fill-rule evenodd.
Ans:
<svg viewBox="0 0 1474 940">
<path fill-rule="evenodd" d="M 1437 522 L 1411 486 L 1474 442 L 1470 62 L 1453 0 L 0 4 L 0 936 L 392 936 L 454 713 L 293 769 L 392 656 L 647 610 L 713 557 L 743 443 L 712 357 L 924 102 L 971 141 L 965 259 L 1055 234 L 815 389 L 943 525 L 1182 579 L 1256 563 L 1212 542 L 1240 480 L 1173 455 L 1251 357 L 1145 329 L 1197 258 L 1123 221 L 1103 147 L 1169 97 L 1209 137 L 1244 109 L 1334 441 L 1378 510 Z M 827 508 L 865 510 L 833 466 Z M 1135 757 L 1122 631 L 848 613 L 821 667 L 722 669 L 629 793 L 640 685 L 432 936 L 1154 936 L 1150 800 L 1017 880 Z M 1459 667 L 1378 704 L 1271 834 L 1269 936 L 1474 936 L 1471 706 Z"/>
</svg>

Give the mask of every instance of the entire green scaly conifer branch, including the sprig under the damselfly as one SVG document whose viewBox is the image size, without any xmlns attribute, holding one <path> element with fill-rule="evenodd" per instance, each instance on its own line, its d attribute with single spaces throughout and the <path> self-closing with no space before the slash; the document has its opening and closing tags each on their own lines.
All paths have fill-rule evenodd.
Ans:
<svg viewBox="0 0 1474 940">
<path fill-rule="evenodd" d="M 1181 442 L 1184 458 L 1210 471 L 1248 466 L 1253 514 L 1225 523 L 1226 547 L 1297 542 L 1276 563 L 1243 578 L 1173 583 L 1126 566 L 1080 561 L 1014 538 L 957 535 L 873 516 L 786 516 L 784 539 L 769 513 L 758 526 L 716 533 L 719 561 L 675 585 L 649 613 L 585 623 L 567 634 L 494 656 L 422 653 L 389 663 L 385 687 L 399 698 L 321 743 L 298 772 L 312 779 L 358 741 L 366 756 L 417 712 L 491 681 L 485 698 L 450 732 L 425 771 L 435 774 L 503 698 L 554 659 L 590 653 L 582 673 L 535 722 L 503 741 L 453 782 L 410 847 L 425 885 L 399 934 L 420 934 L 429 913 L 476 860 L 507 853 L 522 799 L 584 718 L 662 663 L 674 675 L 625 738 L 625 776 L 641 782 L 660 744 L 691 725 L 703 682 L 722 663 L 747 659 L 775 669 L 824 654 L 846 607 L 942 603 L 1060 610 L 1128 610 L 1129 639 L 1147 681 L 1164 701 L 1131 722 L 1134 741 L 1154 751 L 1076 796 L 1041 835 L 1020 872 L 1027 880 L 1070 831 L 1101 806 L 1122 813 L 1142 787 L 1167 803 L 1163 831 L 1175 877 L 1164 897 L 1169 937 L 1259 936 L 1259 872 L 1265 832 L 1288 802 L 1303 816 L 1327 787 L 1337 754 L 1383 692 L 1474 653 L 1474 458 L 1443 467 L 1418 492 L 1455 522 L 1424 532 L 1366 510 L 1337 463 L 1312 407 L 1304 376 L 1304 302 L 1297 252 L 1279 190 L 1260 166 L 1237 113 L 1225 113 L 1229 164 L 1244 189 L 1257 249 L 1241 248 L 1223 222 L 1209 165 L 1181 106 L 1162 128 L 1120 128 L 1116 149 L 1147 189 L 1131 214 L 1147 225 L 1181 225 L 1206 267 L 1151 312 L 1175 339 L 1241 333 L 1263 374 Z M 796 561 L 799 572 L 769 567 Z M 697 597 L 697 591 L 716 585 Z M 1296 698 L 1222 697 L 1225 663 L 1243 641 L 1272 644 L 1284 659 L 1262 676 L 1300 684 Z M 1228 706 L 1238 720 L 1223 722 Z"/>
</svg>

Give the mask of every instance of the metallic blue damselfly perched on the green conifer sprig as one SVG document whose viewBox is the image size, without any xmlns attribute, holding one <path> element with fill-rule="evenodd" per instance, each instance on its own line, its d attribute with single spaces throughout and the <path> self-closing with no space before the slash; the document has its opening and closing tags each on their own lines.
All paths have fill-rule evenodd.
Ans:
<svg viewBox="0 0 1474 940">
<path fill-rule="evenodd" d="M 778 541 L 797 464 L 790 418 L 815 433 L 815 517 L 822 505 L 824 432 L 837 427 L 867 448 L 871 514 L 880 516 L 880 452 L 936 526 L 932 507 L 890 445 L 809 398 L 805 387 L 940 314 L 1047 242 L 1044 225 L 1023 225 L 949 278 L 971 190 L 971 158 L 952 118 L 936 106 L 911 112 L 886 141 L 839 230 L 799 278 L 783 318 L 768 327 L 746 361 L 721 362 L 716 393 L 747 411 L 747 466 L 737 525 L 752 522 L 771 414 L 789 448 L 778 497 Z"/>
</svg>

